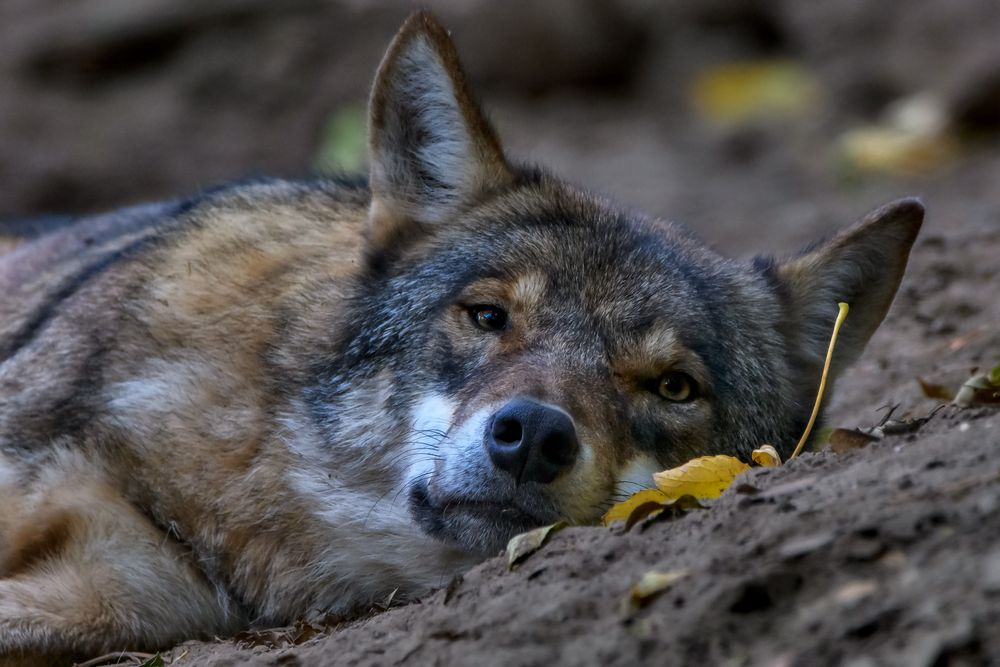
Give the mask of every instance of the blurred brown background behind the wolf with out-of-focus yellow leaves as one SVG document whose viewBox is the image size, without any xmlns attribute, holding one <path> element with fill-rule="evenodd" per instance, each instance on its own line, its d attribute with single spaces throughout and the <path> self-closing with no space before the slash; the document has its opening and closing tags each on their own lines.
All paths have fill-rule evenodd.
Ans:
<svg viewBox="0 0 1000 667">
<path fill-rule="evenodd" d="M 512 156 L 724 251 L 908 194 L 1000 224 L 995 0 L 0 0 L 0 220 L 364 169 L 418 6 Z"/>
</svg>

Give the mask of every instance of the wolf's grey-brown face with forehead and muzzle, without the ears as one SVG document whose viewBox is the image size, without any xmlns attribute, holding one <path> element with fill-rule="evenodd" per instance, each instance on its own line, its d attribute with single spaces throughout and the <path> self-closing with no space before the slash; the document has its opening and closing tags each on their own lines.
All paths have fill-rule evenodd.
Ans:
<svg viewBox="0 0 1000 667">
<path fill-rule="evenodd" d="M 529 179 L 418 245 L 375 317 L 410 329 L 394 391 L 431 534 L 495 551 L 803 421 L 780 336 L 757 324 L 780 315 L 766 278 L 667 224 Z"/>
</svg>

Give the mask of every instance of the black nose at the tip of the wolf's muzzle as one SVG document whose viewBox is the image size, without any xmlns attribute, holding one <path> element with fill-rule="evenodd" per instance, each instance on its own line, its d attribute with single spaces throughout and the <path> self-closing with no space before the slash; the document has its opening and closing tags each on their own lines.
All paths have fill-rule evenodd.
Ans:
<svg viewBox="0 0 1000 667">
<path fill-rule="evenodd" d="M 486 427 L 486 451 L 497 468 L 518 483 L 548 484 L 576 462 L 580 443 L 562 410 L 515 398 Z"/>
</svg>

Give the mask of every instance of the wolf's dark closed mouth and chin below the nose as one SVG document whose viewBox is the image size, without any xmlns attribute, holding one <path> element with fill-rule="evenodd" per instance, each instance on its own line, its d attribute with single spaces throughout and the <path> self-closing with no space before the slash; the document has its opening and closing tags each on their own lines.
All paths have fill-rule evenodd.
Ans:
<svg viewBox="0 0 1000 667">
<path fill-rule="evenodd" d="M 515 535 L 558 519 L 514 501 L 452 498 L 435 502 L 426 484 L 410 492 L 410 511 L 428 535 L 483 555 L 493 555 Z"/>
</svg>

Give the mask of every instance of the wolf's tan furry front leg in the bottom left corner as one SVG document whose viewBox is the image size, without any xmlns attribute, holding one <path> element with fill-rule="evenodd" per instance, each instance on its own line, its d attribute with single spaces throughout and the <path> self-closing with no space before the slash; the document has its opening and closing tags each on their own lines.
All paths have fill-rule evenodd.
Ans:
<svg viewBox="0 0 1000 667">
<path fill-rule="evenodd" d="M 28 493 L 0 479 L 0 665 L 157 649 L 240 626 L 180 545 L 72 463 L 46 466 Z"/>
</svg>

